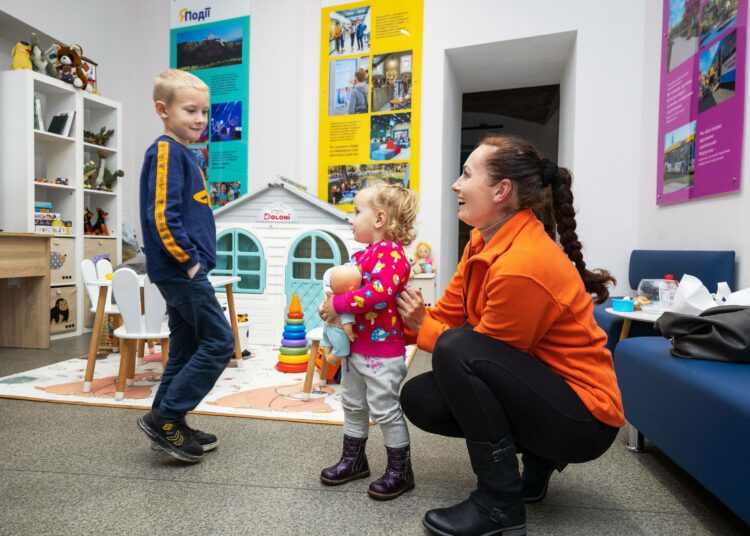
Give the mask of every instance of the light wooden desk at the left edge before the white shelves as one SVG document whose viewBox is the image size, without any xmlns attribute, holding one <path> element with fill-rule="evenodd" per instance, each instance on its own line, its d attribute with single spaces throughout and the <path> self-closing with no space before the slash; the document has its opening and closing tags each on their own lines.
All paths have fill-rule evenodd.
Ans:
<svg viewBox="0 0 750 536">
<path fill-rule="evenodd" d="M 50 237 L 0 233 L 0 346 L 49 348 Z"/>
</svg>

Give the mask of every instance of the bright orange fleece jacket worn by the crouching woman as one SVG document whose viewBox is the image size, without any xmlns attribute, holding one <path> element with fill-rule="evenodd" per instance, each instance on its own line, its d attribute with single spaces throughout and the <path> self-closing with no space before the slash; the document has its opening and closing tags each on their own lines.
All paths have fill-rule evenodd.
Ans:
<svg viewBox="0 0 750 536">
<path fill-rule="evenodd" d="M 464 314 L 464 293 L 467 316 Z M 466 321 L 547 364 L 601 422 L 625 424 L 607 336 L 573 263 L 531 210 L 484 243 L 474 229 L 458 270 L 416 337 L 432 352 L 440 334 Z M 414 340 L 414 333 L 408 331 Z"/>
</svg>

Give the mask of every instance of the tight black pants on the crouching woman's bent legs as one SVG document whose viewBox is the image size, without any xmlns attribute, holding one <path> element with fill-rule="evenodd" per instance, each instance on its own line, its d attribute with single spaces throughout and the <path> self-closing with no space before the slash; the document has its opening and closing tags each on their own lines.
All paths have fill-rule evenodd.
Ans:
<svg viewBox="0 0 750 536">
<path fill-rule="evenodd" d="M 546 364 L 471 328 L 445 331 L 432 372 L 404 384 L 401 406 L 433 434 L 497 442 L 556 462 L 598 458 L 618 429 L 597 420 Z"/>
</svg>

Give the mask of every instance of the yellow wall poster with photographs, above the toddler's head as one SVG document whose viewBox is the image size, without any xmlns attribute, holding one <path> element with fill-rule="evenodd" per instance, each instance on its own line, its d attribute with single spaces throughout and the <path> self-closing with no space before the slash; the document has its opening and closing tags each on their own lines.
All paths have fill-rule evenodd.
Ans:
<svg viewBox="0 0 750 536">
<path fill-rule="evenodd" d="M 376 181 L 419 189 L 422 0 L 322 10 L 318 196 L 345 211 Z"/>
</svg>

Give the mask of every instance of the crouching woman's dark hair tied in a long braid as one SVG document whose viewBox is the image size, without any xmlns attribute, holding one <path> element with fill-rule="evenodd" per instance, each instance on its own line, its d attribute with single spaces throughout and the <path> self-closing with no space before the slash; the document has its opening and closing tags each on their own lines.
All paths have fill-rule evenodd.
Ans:
<svg viewBox="0 0 750 536">
<path fill-rule="evenodd" d="M 559 237 L 563 251 L 581 274 L 586 290 L 596 294 L 597 303 L 606 301 L 607 285 L 617 281 L 607 270 L 588 270 L 583 262 L 582 246 L 576 234 L 570 171 L 542 158 L 533 145 L 520 138 L 490 135 L 483 138 L 480 145 L 495 149 L 485 160 L 492 184 L 505 178 L 513 181 L 518 208 L 535 211 L 547 233 L 553 238 Z M 552 191 L 551 210 L 548 186 Z"/>
</svg>

